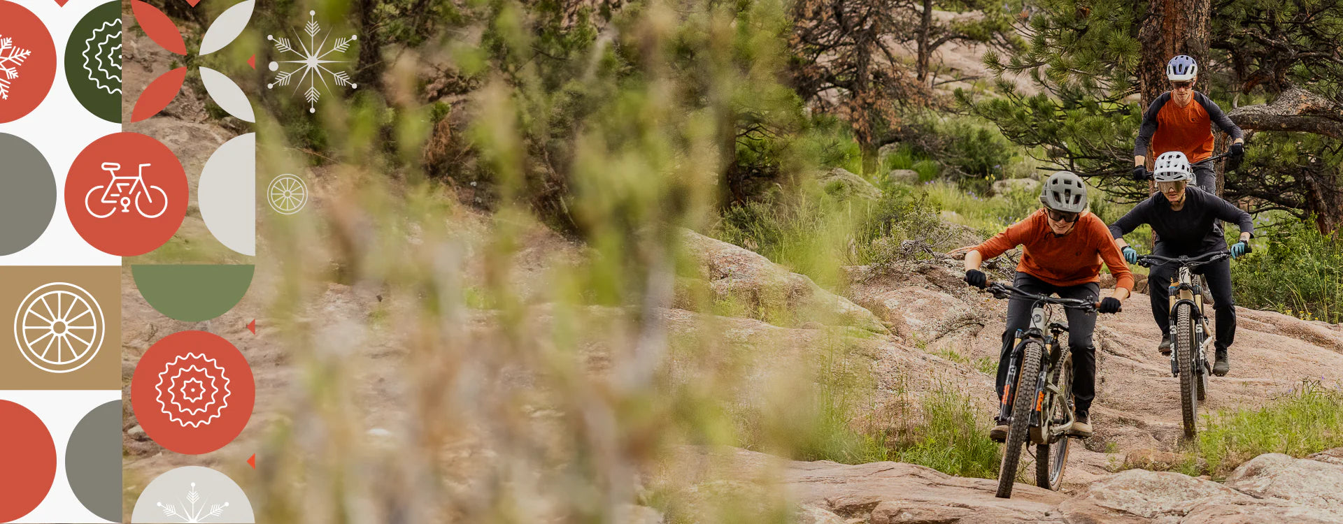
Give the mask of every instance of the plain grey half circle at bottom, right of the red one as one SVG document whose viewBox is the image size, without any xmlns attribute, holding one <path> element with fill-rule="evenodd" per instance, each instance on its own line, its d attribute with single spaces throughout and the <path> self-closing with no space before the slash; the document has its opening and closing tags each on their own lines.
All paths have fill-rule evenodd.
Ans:
<svg viewBox="0 0 1343 524">
<path fill-rule="evenodd" d="M 70 433 L 66 478 L 99 519 L 121 521 L 121 401 L 94 407 Z"/>
</svg>

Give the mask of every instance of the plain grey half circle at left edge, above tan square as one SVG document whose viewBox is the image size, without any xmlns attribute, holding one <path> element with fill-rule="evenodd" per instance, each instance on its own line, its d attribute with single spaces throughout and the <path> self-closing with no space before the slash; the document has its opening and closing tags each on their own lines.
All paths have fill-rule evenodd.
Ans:
<svg viewBox="0 0 1343 524">
<path fill-rule="evenodd" d="M 27 248 L 51 224 L 56 212 L 56 178 L 38 147 L 0 133 L 0 256 Z"/>
</svg>

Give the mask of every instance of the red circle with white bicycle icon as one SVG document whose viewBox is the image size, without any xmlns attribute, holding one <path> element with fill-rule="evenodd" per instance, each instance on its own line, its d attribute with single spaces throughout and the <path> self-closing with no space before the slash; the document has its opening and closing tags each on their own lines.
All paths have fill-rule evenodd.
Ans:
<svg viewBox="0 0 1343 524">
<path fill-rule="evenodd" d="M 79 236 L 105 253 L 148 253 L 172 239 L 187 216 L 187 173 L 158 141 L 109 134 L 70 165 L 66 214 Z"/>
</svg>

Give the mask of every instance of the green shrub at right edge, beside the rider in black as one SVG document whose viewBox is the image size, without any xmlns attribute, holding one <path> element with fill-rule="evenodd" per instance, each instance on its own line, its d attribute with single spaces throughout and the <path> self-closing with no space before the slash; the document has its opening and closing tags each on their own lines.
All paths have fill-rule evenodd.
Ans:
<svg viewBox="0 0 1343 524">
<path fill-rule="evenodd" d="M 1234 236 L 1236 226 L 1226 228 Z M 1343 320 L 1343 243 L 1313 220 L 1283 217 L 1262 232 L 1254 252 L 1232 263 L 1238 306 L 1309 320 Z"/>
</svg>

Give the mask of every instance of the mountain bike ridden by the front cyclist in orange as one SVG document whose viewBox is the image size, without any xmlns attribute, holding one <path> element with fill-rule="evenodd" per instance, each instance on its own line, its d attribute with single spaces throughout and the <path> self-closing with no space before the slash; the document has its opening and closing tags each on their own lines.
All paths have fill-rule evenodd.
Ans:
<svg viewBox="0 0 1343 524">
<path fill-rule="evenodd" d="M 1068 430 L 1073 414 L 1073 356 L 1060 335 L 1068 324 L 1053 322 L 1049 306 L 1096 311 L 1096 303 L 1035 295 L 992 283 L 986 292 L 995 299 L 1030 300 L 1030 327 L 1017 330 L 1007 365 L 1007 382 L 999 399 L 998 423 L 1009 426 L 998 468 L 998 497 L 1011 497 L 1022 448 L 1035 445 L 1035 485 L 1058 490 L 1068 462 Z"/>
</svg>

